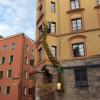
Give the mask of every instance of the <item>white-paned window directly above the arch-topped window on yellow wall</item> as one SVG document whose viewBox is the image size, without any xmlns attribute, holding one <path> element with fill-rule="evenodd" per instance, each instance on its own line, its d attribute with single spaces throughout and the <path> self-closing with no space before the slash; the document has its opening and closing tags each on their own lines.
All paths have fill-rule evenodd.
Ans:
<svg viewBox="0 0 100 100">
<path fill-rule="evenodd" d="M 72 19 L 72 30 L 79 31 L 82 30 L 82 19 Z"/>
</svg>

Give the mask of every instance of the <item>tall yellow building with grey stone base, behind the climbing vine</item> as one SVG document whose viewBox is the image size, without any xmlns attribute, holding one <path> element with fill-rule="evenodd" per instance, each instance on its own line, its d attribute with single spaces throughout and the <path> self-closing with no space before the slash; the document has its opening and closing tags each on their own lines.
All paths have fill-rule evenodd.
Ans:
<svg viewBox="0 0 100 100">
<path fill-rule="evenodd" d="M 52 65 L 42 45 L 43 22 L 52 55 L 64 68 L 66 91 L 54 100 L 99 100 L 100 0 L 37 0 L 39 69 Z"/>
</svg>

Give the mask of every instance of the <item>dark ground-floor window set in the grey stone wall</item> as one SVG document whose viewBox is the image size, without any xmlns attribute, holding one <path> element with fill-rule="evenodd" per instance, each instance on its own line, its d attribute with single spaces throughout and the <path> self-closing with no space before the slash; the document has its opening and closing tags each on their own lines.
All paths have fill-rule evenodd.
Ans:
<svg viewBox="0 0 100 100">
<path fill-rule="evenodd" d="M 86 69 L 76 69 L 75 73 L 75 85 L 77 87 L 88 86 L 87 71 Z"/>
</svg>

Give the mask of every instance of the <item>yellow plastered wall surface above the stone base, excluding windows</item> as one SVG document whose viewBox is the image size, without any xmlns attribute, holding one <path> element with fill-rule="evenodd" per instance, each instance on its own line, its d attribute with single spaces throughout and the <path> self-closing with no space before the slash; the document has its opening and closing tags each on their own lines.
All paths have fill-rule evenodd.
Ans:
<svg viewBox="0 0 100 100">
<path fill-rule="evenodd" d="M 41 2 L 40 2 L 41 1 Z M 95 45 L 100 43 L 100 9 L 97 8 L 97 0 L 88 0 L 84 2 L 79 1 L 79 8 L 71 9 L 70 0 L 38 0 L 37 12 L 42 9 L 42 15 L 37 13 L 37 40 L 41 35 L 39 27 L 43 25 L 43 22 L 56 23 L 56 32 L 48 33 L 48 44 L 57 46 L 57 57 L 59 59 L 59 50 L 61 60 L 72 60 L 71 45 L 73 43 L 84 42 L 85 45 L 85 57 L 90 57 L 100 54 L 100 47 Z M 52 2 L 55 3 L 55 12 L 52 12 Z M 90 3 L 89 3 L 90 2 Z M 43 8 L 39 8 L 39 7 Z M 58 10 L 59 9 L 59 10 Z M 39 20 L 40 19 L 40 20 Z M 73 30 L 72 20 L 81 19 L 82 29 Z M 60 37 L 60 39 L 59 39 Z M 60 42 L 60 49 L 59 49 Z M 95 48 L 95 49 L 94 49 Z"/>
</svg>

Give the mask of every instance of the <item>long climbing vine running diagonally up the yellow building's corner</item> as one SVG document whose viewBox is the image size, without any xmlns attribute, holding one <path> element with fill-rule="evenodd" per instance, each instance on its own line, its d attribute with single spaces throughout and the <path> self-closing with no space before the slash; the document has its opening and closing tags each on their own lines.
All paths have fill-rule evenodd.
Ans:
<svg viewBox="0 0 100 100">
<path fill-rule="evenodd" d="M 64 84 L 63 84 L 63 78 L 62 78 L 62 73 L 63 73 L 63 68 L 60 66 L 59 61 L 53 57 L 51 50 L 49 48 L 49 45 L 46 42 L 46 38 L 47 38 L 47 26 L 44 25 L 44 31 L 43 31 L 43 35 L 42 35 L 42 45 L 48 55 L 49 60 L 51 61 L 51 63 L 53 64 L 54 67 L 57 68 L 57 72 L 58 72 L 58 81 L 62 83 L 62 90 L 64 90 Z"/>
</svg>

